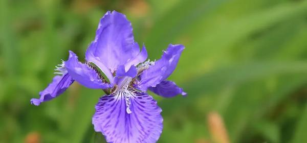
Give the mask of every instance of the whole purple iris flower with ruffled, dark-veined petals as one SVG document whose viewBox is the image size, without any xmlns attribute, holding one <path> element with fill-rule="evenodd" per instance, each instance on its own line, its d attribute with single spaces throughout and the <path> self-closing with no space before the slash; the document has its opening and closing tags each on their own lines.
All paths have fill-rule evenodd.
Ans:
<svg viewBox="0 0 307 143">
<path fill-rule="evenodd" d="M 108 11 L 86 50 L 85 63 L 70 51 L 69 59 L 56 68 L 59 75 L 31 104 L 38 106 L 54 99 L 77 81 L 106 93 L 95 106 L 92 123 L 107 142 L 156 142 L 163 128 L 162 110 L 146 91 L 166 98 L 186 95 L 182 88 L 166 80 L 176 68 L 183 49 L 183 45 L 169 44 L 161 59 L 146 61 L 145 46 L 140 51 L 126 16 Z"/>
</svg>

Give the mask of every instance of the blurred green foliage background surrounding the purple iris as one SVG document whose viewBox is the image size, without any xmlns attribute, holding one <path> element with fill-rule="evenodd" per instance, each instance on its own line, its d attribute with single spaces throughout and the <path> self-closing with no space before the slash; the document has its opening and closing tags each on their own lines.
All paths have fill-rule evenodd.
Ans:
<svg viewBox="0 0 307 143">
<path fill-rule="evenodd" d="M 91 124 L 101 90 L 75 82 L 38 107 L 30 99 L 68 50 L 84 58 L 106 10 L 127 15 L 150 59 L 169 43 L 186 46 L 169 79 L 188 97 L 154 95 L 164 117 L 158 142 L 307 142 L 299 0 L 1 0 L 0 142 L 104 142 Z"/>
</svg>

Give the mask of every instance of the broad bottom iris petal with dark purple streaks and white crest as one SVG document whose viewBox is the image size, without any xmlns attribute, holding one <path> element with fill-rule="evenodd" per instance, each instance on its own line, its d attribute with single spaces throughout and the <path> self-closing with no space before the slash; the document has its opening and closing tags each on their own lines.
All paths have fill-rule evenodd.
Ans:
<svg viewBox="0 0 307 143">
<path fill-rule="evenodd" d="M 156 142 L 160 137 L 162 110 L 146 93 L 118 90 L 100 98 L 95 108 L 94 129 L 107 142 Z"/>
</svg>

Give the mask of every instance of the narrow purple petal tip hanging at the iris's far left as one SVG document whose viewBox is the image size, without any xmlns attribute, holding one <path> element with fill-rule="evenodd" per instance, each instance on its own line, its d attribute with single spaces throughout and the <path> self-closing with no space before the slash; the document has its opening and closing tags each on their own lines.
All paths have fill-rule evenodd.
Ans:
<svg viewBox="0 0 307 143">
<path fill-rule="evenodd" d="M 39 99 L 31 99 L 31 104 L 38 106 L 41 102 L 52 100 L 62 94 L 74 80 L 69 74 L 57 75 L 44 90 L 39 92 Z"/>
</svg>

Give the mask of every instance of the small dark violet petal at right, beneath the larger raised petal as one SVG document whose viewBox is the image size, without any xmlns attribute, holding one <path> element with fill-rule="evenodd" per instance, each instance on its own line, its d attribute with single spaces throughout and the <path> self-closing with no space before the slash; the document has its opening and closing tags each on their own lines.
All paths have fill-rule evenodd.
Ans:
<svg viewBox="0 0 307 143">
<path fill-rule="evenodd" d="M 177 96 L 178 94 L 186 96 L 187 94 L 183 91 L 182 88 L 178 87 L 176 83 L 172 81 L 162 81 L 157 84 L 156 87 L 148 87 L 148 89 L 165 98 L 172 98 L 174 96 Z"/>
</svg>

